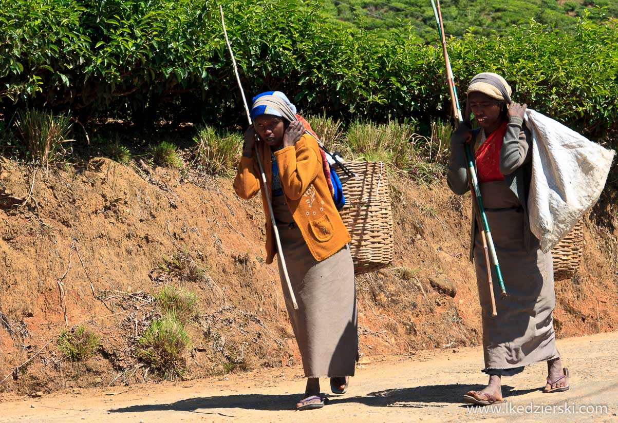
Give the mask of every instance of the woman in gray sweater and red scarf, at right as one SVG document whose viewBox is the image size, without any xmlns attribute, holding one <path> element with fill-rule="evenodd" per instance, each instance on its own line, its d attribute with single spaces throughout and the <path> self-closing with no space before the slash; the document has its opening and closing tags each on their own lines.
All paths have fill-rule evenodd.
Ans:
<svg viewBox="0 0 618 423">
<path fill-rule="evenodd" d="M 465 122 L 452 135 L 447 177 L 455 194 L 468 191 L 464 143 L 470 143 L 508 293 L 496 298 L 497 316 L 492 317 L 486 270 L 491 264 L 485 262 L 473 209 L 470 259 L 475 263 L 483 321 L 483 372 L 489 374 L 489 383 L 481 391 L 468 392 L 464 401 L 480 405 L 504 402 L 501 377 L 517 374 L 535 362 L 548 363 L 543 392 L 569 389 L 552 321 L 556 294 L 551 252 L 541 251 L 528 223 L 532 149 L 530 132 L 523 125 L 526 104 L 513 103 L 510 94 L 510 86 L 496 73 L 472 78 L 464 119 L 472 112 L 480 128 L 471 130 Z M 492 279 L 497 280 L 495 274 Z"/>
</svg>

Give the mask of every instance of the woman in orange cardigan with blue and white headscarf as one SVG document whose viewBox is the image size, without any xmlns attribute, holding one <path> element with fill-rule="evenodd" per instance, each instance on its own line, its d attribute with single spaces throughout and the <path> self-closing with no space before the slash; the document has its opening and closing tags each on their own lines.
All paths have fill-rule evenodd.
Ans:
<svg viewBox="0 0 618 423">
<path fill-rule="evenodd" d="M 332 392 L 345 393 L 354 375 L 358 335 L 350 235 L 332 200 L 320 147 L 295 113 L 279 91 L 253 98 L 253 125 L 245 132 L 234 190 L 243 199 L 261 190 L 268 264 L 277 253 L 266 195 L 272 200 L 298 303 L 295 310 L 279 261 L 287 311 L 308 378 L 305 395 L 296 404 L 303 410 L 324 406 L 320 377 L 331 378 Z M 263 163 L 266 188 L 255 154 Z"/>
</svg>

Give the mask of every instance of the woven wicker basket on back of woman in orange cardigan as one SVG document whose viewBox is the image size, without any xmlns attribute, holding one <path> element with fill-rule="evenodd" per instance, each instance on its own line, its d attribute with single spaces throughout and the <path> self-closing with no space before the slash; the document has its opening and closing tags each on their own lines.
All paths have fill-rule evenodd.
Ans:
<svg viewBox="0 0 618 423">
<path fill-rule="evenodd" d="M 350 232 L 354 272 L 389 266 L 393 256 L 391 196 L 382 162 L 347 162 L 355 177 L 337 172 L 345 196 L 341 217 Z"/>
</svg>

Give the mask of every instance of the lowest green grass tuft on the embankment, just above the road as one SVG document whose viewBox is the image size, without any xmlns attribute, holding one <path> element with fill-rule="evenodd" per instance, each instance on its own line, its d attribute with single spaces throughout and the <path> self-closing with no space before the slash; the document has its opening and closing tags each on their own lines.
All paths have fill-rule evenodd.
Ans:
<svg viewBox="0 0 618 423">
<path fill-rule="evenodd" d="M 190 340 L 184 325 L 173 315 L 152 322 L 137 344 L 137 358 L 164 379 L 174 380 L 187 371 Z"/>
</svg>

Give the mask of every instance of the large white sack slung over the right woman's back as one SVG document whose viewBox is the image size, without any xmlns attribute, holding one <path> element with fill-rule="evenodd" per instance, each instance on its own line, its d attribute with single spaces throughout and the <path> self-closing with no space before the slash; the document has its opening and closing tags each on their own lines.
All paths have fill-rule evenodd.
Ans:
<svg viewBox="0 0 618 423">
<path fill-rule="evenodd" d="M 527 109 L 525 117 L 532 133 L 530 230 L 546 253 L 595 205 L 614 151 L 539 112 Z"/>
</svg>

